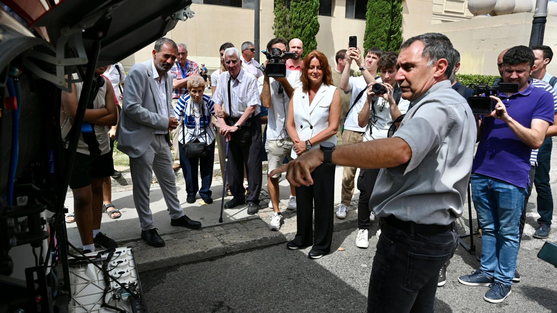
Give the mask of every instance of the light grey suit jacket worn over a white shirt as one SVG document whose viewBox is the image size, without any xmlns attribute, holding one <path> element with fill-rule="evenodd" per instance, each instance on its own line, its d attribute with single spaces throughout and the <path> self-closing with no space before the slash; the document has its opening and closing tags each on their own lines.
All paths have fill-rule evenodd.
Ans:
<svg viewBox="0 0 557 313">
<path fill-rule="evenodd" d="M 153 59 L 137 63 L 128 73 L 124 90 L 123 107 L 118 123 L 118 150 L 139 158 L 153 141 L 155 130 L 168 130 L 169 116 L 174 116 L 172 109 L 172 75 L 169 72 L 166 81 L 168 115 L 159 114 L 159 96 L 153 79 Z M 170 145 L 170 134 L 165 138 Z"/>
</svg>

